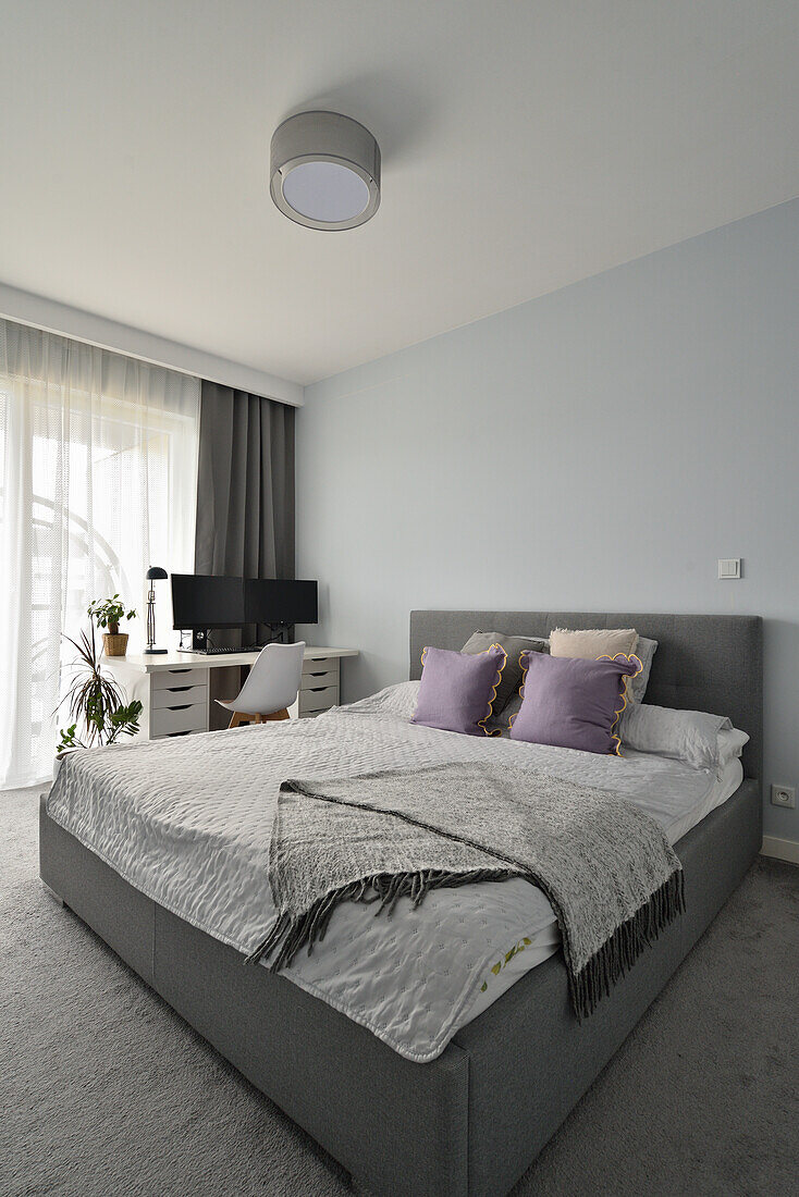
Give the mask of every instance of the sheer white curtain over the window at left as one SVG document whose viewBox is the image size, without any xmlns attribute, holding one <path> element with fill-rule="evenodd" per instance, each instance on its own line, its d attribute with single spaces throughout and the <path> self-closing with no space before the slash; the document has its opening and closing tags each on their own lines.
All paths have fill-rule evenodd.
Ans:
<svg viewBox="0 0 799 1197">
<path fill-rule="evenodd" d="M 0 320 L 0 788 L 52 774 L 89 602 L 137 608 L 134 651 L 147 567 L 192 572 L 199 405 L 196 378 Z"/>
</svg>

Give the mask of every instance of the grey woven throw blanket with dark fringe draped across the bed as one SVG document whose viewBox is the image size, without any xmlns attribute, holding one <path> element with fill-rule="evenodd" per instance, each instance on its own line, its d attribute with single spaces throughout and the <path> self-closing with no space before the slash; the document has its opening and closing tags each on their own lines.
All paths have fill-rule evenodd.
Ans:
<svg viewBox="0 0 799 1197">
<path fill-rule="evenodd" d="M 434 888 L 514 876 L 552 905 L 579 1019 L 684 909 L 661 827 L 605 790 L 473 764 L 287 780 L 270 850 L 279 913 L 248 962 L 290 965 L 343 901 L 391 916 L 402 898 L 418 906 Z"/>
</svg>

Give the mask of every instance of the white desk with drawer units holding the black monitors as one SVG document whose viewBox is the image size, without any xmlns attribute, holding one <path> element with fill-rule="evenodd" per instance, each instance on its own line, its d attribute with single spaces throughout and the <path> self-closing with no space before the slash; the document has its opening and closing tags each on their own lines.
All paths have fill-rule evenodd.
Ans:
<svg viewBox="0 0 799 1197">
<path fill-rule="evenodd" d="M 357 649 L 308 646 L 299 694 L 290 710 L 292 718 L 308 718 L 337 706 L 341 658 L 357 656 Z M 103 667 L 123 687 L 128 701 L 138 698 L 141 703 L 139 734 L 146 740 L 161 740 L 164 736 L 207 731 L 213 727 L 213 699 L 235 698 L 238 693 L 236 675 L 228 675 L 224 693 L 214 693 L 213 670 L 252 666 L 256 657 L 258 652 L 206 656 L 204 652 L 170 651 L 157 656 L 104 656 Z M 225 727 L 228 712 L 222 707 L 218 711 L 222 713 L 217 723 Z"/>
</svg>

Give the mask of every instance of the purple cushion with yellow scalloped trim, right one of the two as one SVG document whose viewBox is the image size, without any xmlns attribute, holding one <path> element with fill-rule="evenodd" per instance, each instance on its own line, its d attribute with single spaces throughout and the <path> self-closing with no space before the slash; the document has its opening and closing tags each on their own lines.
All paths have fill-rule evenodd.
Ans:
<svg viewBox="0 0 799 1197">
<path fill-rule="evenodd" d="M 613 729 L 627 706 L 627 679 L 641 670 L 636 656 L 585 661 L 522 652 L 521 666 L 522 703 L 512 740 L 621 755 Z"/>
</svg>

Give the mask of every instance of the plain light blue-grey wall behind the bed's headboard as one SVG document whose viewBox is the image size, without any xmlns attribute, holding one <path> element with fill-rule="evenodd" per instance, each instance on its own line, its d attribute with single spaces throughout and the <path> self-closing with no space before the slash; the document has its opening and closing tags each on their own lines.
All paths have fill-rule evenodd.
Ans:
<svg viewBox="0 0 799 1197">
<path fill-rule="evenodd" d="M 407 678 L 414 607 L 762 614 L 798 785 L 798 367 L 792 201 L 307 388 L 297 576 L 361 649 L 345 699 Z"/>
</svg>

